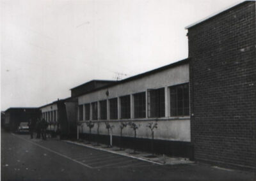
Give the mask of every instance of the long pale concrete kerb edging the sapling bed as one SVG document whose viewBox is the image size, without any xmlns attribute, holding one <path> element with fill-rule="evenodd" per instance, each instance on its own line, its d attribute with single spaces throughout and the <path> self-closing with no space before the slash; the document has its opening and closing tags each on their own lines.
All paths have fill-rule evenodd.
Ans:
<svg viewBox="0 0 256 181">
<path fill-rule="evenodd" d="M 112 150 L 106 150 L 106 149 L 104 149 L 104 148 L 96 148 L 96 147 L 92 147 L 92 146 L 89 146 L 89 145 L 85 145 L 85 144 L 83 144 L 83 143 L 77 143 L 77 142 L 75 142 L 75 141 L 68 141 L 68 140 L 62 140 L 62 141 L 65 141 L 65 142 L 67 142 L 67 143 L 72 143 L 72 144 L 75 144 L 75 145 L 80 145 L 80 146 L 83 146 L 83 147 L 93 148 L 93 149 L 95 149 L 95 150 L 101 150 L 101 151 L 104 151 L 104 152 L 109 152 L 109 153 L 112 153 L 112 154 L 118 154 L 118 155 L 120 155 L 120 156 L 131 157 L 131 158 L 133 158 L 133 159 L 139 159 L 139 160 L 141 160 L 141 161 L 147 161 L 148 163 L 154 163 L 154 164 L 164 165 L 163 163 L 157 163 L 157 162 L 155 162 L 155 161 L 150 161 L 150 160 L 148 160 L 148 159 L 143 159 L 143 158 L 141 158 L 141 157 L 134 157 L 134 156 L 130 156 L 130 155 L 127 155 L 127 154 L 122 154 L 122 153 L 114 152 L 114 151 L 112 151 Z"/>
</svg>

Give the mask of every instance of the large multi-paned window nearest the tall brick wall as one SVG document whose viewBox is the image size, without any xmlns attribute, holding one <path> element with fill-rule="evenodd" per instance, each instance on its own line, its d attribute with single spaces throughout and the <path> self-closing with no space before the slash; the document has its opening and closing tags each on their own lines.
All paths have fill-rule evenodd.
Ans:
<svg viewBox="0 0 256 181">
<path fill-rule="evenodd" d="M 171 116 L 189 115 L 189 84 L 170 87 Z"/>
</svg>

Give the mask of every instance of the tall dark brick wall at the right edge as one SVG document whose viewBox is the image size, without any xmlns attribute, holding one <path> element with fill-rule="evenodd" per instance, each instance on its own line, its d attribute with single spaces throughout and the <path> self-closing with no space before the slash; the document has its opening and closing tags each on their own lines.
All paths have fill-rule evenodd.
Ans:
<svg viewBox="0 0 256 181">
<path fill-rule="evenodd" d="M 195 159 L 256 167 L 255 1 L 188 29 Z"/>
</svg>

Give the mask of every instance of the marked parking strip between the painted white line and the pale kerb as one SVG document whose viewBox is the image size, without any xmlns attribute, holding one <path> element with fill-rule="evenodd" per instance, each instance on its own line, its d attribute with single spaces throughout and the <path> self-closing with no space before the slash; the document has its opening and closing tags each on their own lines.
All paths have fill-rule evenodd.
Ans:
<svg viewBox="0 0 256 181">
<path fill-rule="evenodd" d="M 38 147 L 58 154 L 61 157 L 70 159 L 87 168 L 125 168 L 125 167 L 145 167 L 152 166 L 154 163 L 126 157 L 111 152 L 96 150 L 90 147 L 74 145 L 65 141 L 49 139 L 46 141 L 40 139 L 30 139 L 29 135 L 13 134 L 19 139 L 29 141 Z"/>
</svg>

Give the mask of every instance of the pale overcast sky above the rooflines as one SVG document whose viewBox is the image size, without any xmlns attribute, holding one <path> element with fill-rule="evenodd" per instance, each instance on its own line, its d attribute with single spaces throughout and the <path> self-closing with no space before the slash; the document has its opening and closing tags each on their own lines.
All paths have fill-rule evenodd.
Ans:
<svg viewBox="0 0 256 181">
<path fill-rule="evenodd" d="M 42 106 L 93 79 L 185 59 L 184 27 L 237 2 L 1 1 L 1 110 Z"/>
</svg>

